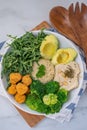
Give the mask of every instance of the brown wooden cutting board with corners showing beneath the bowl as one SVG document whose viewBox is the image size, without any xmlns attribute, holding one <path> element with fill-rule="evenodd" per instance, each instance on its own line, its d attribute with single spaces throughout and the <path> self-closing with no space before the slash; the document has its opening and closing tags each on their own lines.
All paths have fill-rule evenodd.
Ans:
<svg viewBox="0 0 87 130">
<path fill-rule="evenodd" d="M 39 30 L 42 28 L 50 28 L 50 27 L 51 26 L 46 21 L 43 21 L 42 23 L 37 25 L 35 28 L 33 28 L 32 31 Z M 45 118 L 45 116 L 26 113 L 17 107 L 16 107 L 16 109 L 21 114 L 21 116 L 24 118 L 24 120 L 28 123 L 28 125 L 31 127 L 35 126 L 36 124 L 38 124 L 41 120 L 43 120 Z"/>
</svg>

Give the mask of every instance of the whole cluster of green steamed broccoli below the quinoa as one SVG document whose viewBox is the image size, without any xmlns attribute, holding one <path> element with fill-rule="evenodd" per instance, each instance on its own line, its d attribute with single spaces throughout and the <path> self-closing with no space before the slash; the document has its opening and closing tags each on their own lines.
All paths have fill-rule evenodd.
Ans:
<svg viewBox="0 0 87 130">
<path fill-rule="evenodd" d="M 60 88 L 56 81 L 49 81 L 46 84 L 34 80 L 30 85 L 30 94 L 27 95 L 26 105 L 37 112 L 56 113 L 68 99 L 68 91 Z"/>
</svg>

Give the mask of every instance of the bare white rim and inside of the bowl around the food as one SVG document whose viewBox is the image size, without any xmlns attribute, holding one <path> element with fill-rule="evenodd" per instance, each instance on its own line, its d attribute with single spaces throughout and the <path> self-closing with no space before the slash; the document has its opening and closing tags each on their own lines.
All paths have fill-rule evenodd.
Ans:
<svg viewBox="0 0 87 130">
<path fill-rule="evenodd" d="M 35 35 L 38 34 L 39 31 L 33 31 L 33 33 Z M 76 52 L 78 53 L 78 56 L 76 58 L 76 62 L 79 64 L 80 66 L 80 69 L 81 69 L 81 74 L 80 74 L 80 80 L 79 80 L 79 86 L 78 88 L 72 90 L 70 92 L 70 97 L 69 97 L 69 100 L 63 105 L 62 109 L 64 109 L 66 106 L 68 106 L 70 103 L 72 103 L 74 100 L 75 100 L 75 97 L 77 96 L 80 88 L 82 87 L 82 83 L 83 83 L 83 74 L 84 74 L 84 69 L 83 69 L 83 63 L 82 63 L 82 60 L 81 60 L 81 57 L 80 57 L 80 54 L 79 54 L 79 51 L 78 49 L 76 48 L 76 46 L 74 45 L 74 43 L 70 40 L 68 40 L 67 38 L 65 38 L 64 36 L 58 34 L 58 33 L 55 33 L 55 32 L 51 32 L 51 31 L 44 31 L 46 34 L 54 34 L 56 37 L 58 37 L 59 41 L 60 41 L 60 48 L 67 48 L 67 47 L 71 47 L 71 48 L 74 48 L 76 50 Z M 11 43 L 12 41 L 9 40 L 7 42 L 5 42 L 4 46 L 2 47 L 2 49 L 0 50 L 0 53 L 2 55 L 4 55 L 7 50 L 8 50 L 8 47 L 7 47 L 7 43 Z M 1 61 L 2 62 L 2 61 Z M 9 61 L 8 61 L 9 62 Z M 28 113 L 31 113 L 31 114 L 37 114 L 37 115 L 45 115 L 45 114 L 42 114 L 42 113 L 38 113 L 36 111 L 33 111 L 31 109 L 29 109 L 25 104 L 18 104 L 13 96 L 9 95 L 6 91 L 6 86 L 7 86 L 7 82 L 6 82 L 6 79 L 3 78 L 1 79 L 1 70 L 2 70 L 2 66 L 0 64 L 0 83 L 1 83 L 1 87 L 3 89 L 3 91 L 5 92 L 5 95 L 6 97 L 15 105 L 17 106 L 19 109 L 25 111 L 25 112 L 28 112 Z M 62 110 L 61 109 L 61 110 Z"/>
</svg>

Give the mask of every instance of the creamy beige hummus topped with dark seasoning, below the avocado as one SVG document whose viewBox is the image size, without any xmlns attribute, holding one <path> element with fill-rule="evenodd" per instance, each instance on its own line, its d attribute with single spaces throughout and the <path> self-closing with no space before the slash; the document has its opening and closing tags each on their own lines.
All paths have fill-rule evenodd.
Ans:
<svg viewBox="0 0 87 130">
<path fill-rule="evenodd" d="M 58 81 L 60 86 L 68 91 L 79 86 L 79 75 L 80 67 L 75 61 L 55 66 L 54 80 Z"/>
</svg>

